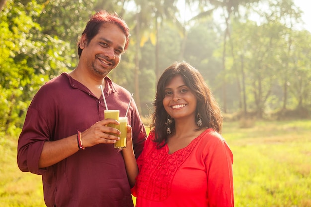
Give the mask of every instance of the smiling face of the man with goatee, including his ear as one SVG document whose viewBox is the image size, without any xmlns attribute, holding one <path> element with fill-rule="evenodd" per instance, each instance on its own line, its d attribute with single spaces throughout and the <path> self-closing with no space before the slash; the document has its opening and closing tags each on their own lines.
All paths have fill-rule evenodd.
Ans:
<svg viewBox="0 0 311 207">
<path fill-rule="evenodd" d="M 113 23 L 105 23 L 91 41 L 82 36 L 80 62 L 95 75 L 105 77 L 120 63 L 125 43 L 123 31 Z"/>
</svg>

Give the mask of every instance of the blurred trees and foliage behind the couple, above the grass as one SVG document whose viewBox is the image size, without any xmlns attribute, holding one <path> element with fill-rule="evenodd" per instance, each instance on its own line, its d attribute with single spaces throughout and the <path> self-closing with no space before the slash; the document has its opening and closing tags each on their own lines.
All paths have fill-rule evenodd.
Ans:
<svg viewBox="0 0 311 207">
<path fill-rule="evenodd" d="M 40 86 L 76 67 L 78 38 L 101 9 L 130 27 L 129 49 L 109 76 L 135 92 L 142 116 L 152 111 L 156 74 L 185 60 L 223 111 L 310 118 L 311 33 L 295 28 L 301 11 L 292 0 L 7 0 L 0 11 L 0 132 L 15 135 Z"/>
</svg>

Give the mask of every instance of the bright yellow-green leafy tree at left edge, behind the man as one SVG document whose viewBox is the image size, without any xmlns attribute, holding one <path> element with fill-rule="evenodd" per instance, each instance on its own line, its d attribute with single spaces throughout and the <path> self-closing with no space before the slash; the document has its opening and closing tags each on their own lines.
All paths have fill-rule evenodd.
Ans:
<svg viewBox="0 0 311 207">
<path fill-rule="evenodd" d="M 22 126 L 25 111 L 39 87 L 74 65 L 70 45 L 58 36 L 44 34 L 34 20 L 44 10 L 36 0 L 8 0 L 0 13 L 1 58 L 0 127 L 13 133 Z"/>
</svg>

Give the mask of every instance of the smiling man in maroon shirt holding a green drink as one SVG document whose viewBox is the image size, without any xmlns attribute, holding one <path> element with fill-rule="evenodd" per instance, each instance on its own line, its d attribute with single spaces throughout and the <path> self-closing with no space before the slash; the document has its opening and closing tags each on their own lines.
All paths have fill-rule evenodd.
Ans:
<svg viewBox="0 0 311 207">
<path fill-rule="evenodd" d="M 104 119 L 108 109 L 125 116 L 131 94 L 107 75 L 127 49 L 129 29 L 117 15 L 93 15 L 78 42 L 79 63 L 37 92 L 18 140 L 21 171 L 42 175 L 47 207 L 133 207 L 124 160 L 108 133 L 117 124 Z M 128 112 L 135 155 L 143 149 L 146 131 L 135 102 Z M 85 150 L 81 150 L 85 149 Z"/>
</svg>

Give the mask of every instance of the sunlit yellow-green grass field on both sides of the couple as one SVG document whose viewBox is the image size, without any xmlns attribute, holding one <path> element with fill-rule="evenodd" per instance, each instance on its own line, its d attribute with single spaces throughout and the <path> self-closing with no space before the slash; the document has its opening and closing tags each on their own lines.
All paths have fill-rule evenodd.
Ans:
<svg viewBox="0 0 311 207">
<path fill-rule="evenodd" d="M 311 207 L 311 120 L 224 123 L 235 207 Z M 0 206 L 44 207 L 41 177 L 20 172 L 17 138 L 0 138 Z M 134 198 L 135 199 L 135 198 Z"/>
</svg>

